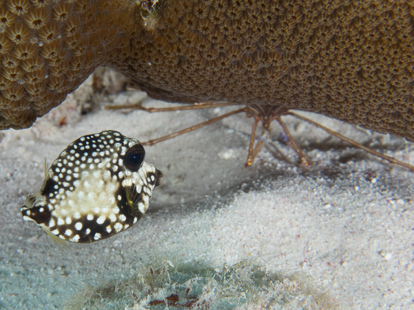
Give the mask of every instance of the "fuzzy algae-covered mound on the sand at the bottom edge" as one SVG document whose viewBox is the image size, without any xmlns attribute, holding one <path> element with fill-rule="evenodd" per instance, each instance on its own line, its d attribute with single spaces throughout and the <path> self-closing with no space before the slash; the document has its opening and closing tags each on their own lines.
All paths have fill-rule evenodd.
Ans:
<svg viewBox="0 0 414 310">
<path fill-rule="evenodd" d="M 309 281 L 310 282 L 310 281 Z M 304 276 L 241 262 L 212 268 L 156 258 L 128 280 L 85 289 L 66 309 L 333 309 Z"/>
</svg>

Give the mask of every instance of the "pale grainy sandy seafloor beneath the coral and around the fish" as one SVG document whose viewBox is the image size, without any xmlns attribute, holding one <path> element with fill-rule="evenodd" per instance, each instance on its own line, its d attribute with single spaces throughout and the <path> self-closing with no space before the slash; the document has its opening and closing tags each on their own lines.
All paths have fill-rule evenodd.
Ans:
<svg viewBox="0 0 414 310">
<path fill-rule="evenodd" d="M 267 147 L 245 168 L 252 120 L 237 115 L 147 146 L 147 162 L 165 175 L 147 215 L 111 239 L 57 250 L 19 211 L 41 186 L 43 157 L 52 162 L 87 133 L 113 129 L 145 141 L 230 109 L 150 114 L 98 106 L 78 115 L 82 91 L 90 89 L 84 85 L 32 128 L 0 133 L 0 309 L 63 309 L 85 287 L 126 279 L 157 255 L 214 267 L 247 260 L 304 274 L 338 309 L 414 309 L 414 174 L 292 118 L 284 119 L 312 159 L 310 168 L 295 164 L 276 123 L 274 145 L 291 162 Z M 100 100 L 142 97 L 128 91 Z M 156 104 L 166 105 L 145 101 Z M 400 138 L 309 115 L 414 162 L 413 144 Z"/>
</svg>

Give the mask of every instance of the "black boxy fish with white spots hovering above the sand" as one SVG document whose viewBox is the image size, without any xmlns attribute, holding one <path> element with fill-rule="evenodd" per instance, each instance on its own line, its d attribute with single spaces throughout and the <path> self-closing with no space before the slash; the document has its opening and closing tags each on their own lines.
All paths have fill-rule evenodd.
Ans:
<svg viewBox="0 0 414 310">
<path fill-rule="evenodd" d="M 147 210 L 163 173 L 144 161 L 141 143 L 117 131 L 75 140 L 45 173 L 21 213 L 54 241 L 90 243 L 131 228 Z"/>
</svg>

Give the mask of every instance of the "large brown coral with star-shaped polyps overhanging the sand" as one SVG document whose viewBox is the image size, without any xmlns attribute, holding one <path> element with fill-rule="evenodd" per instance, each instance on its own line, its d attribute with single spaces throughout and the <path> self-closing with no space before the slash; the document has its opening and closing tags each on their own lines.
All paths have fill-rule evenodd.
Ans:
<svg viewBox="0 0 414 310">
<path fill-rule="evenodd" d="M 150 96 L 322 113 L 414 141 L 414 1 L 0 1 L 0 129 L 98 65 Z"/>
</svg>

